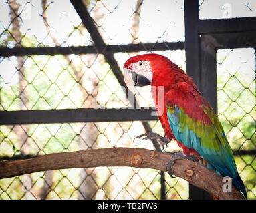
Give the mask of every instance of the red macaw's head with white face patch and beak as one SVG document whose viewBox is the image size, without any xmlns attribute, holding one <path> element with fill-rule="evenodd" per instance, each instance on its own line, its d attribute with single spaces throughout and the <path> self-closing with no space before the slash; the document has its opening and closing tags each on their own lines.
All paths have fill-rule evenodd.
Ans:
<svg viewBox="0 0 256 213">
<path fill-rule="evenodd" d="M 150 53 L 144 55 L 136 55 L 130 57 L 124 63 L 124 81 L 129 89 L 134 86 L 167 86 L 164 85 L 164 80 L 170 85 L 170 81 L 174 80 L 172 71 L 184 73 L 182 69 L 172 63 L 167 57 Z M 171 79 L 170 79 L 171 78 Z"/>
</svg>

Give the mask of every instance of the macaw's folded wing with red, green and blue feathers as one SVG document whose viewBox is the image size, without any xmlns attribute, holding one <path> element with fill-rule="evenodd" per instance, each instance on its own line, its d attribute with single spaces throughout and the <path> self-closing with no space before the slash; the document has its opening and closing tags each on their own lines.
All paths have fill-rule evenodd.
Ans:
<svg viewBox="0 0 256 213">
<path fill-rule="evenodd" d="M 197 92 L 197 91 L 196 91 Z M 246 196 L 245 186 L 235 166 L 233 152 L 213 108 L 201 94 L 180 94 L 186 101 L 170 100 L 167 96 L 168 122 L 176 140 L 187 148 L 194 148 L 215 172 L 233 178 L 233 183 Z M 173 95 L 173 94 L 172 94 Z M 188 97 L 186 97 L 188 96 Z M 199 97 L 199 100 L 196 98 Z M 174 103 L 175 101 L 175 103 Z M 205 122 L 207 120 L 208 122 Z"/>
</svg>

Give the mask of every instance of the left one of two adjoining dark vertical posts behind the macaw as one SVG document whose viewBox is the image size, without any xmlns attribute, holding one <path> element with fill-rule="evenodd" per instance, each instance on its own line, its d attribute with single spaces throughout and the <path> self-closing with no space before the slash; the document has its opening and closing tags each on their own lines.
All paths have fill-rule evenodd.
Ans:
<svg viewBox="0 0 256 213">
<path fill-rule="evenodd" d="M 185 50 L 186 50 L 186 73 L 202 90 L 201 83 L 201 45 L 199 31 L 199 1 L 184 0 L 184 21 L 185 21 Z M 189 184 L 190 200 L 209 199 L 209 194 L 192 184 Z"/>
</svg>

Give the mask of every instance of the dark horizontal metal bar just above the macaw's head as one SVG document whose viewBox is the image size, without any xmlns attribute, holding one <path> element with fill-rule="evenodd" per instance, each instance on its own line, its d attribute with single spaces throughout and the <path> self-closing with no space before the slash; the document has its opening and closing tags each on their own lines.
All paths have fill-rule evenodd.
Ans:
<svg viewBox="0 0 256 213">
<path fill-rule="evenodd" d="M 184 49 L 184 42 L 164 42 L 164 43 L 138 43 L 128 45 L 107 45 L 102 53 L 124 53 L 139 51 L 160 51 Z M 99 53 L 94 46 L 78 47 L 1 47 L 0 56 L 24 56 L 24 55 L 70 55 Z"/>
</svg>

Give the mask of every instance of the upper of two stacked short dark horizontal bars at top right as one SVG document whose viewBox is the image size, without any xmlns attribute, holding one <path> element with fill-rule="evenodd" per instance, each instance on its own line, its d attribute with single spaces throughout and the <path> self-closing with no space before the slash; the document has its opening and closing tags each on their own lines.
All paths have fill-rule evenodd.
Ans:
<svg viewBox="0 0 256 213">
<path fill-rule="evenodd" d="M 199 20 L 199 34 L 256 31 L 256 17 Z"/>
</svg>

